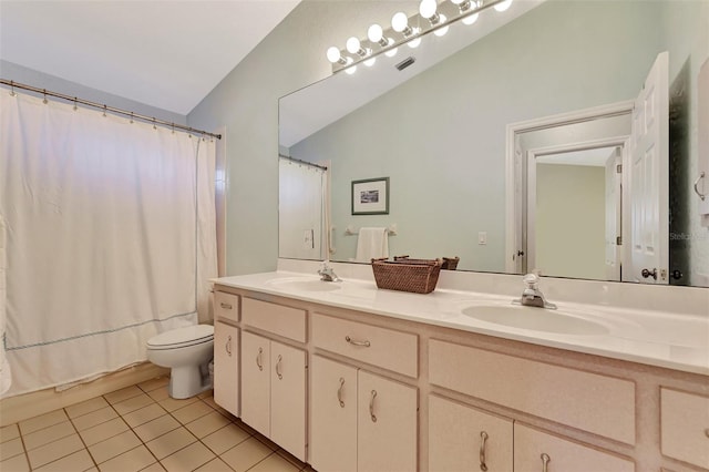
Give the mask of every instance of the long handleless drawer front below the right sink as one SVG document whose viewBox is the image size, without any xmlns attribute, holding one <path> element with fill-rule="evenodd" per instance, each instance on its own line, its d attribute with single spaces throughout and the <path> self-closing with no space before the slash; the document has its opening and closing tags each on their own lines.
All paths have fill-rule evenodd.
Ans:
<svg viewBox="0 0 709 472">
<path fill-rule="evenodd" d="M 432 339 L 430 382 L 635 444 L 635 383 Z"/>
</svg>

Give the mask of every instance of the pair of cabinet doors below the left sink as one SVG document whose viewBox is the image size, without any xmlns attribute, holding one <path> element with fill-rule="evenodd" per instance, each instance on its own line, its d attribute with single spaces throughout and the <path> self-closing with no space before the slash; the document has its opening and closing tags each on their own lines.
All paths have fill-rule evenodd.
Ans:
<svg viewBox="0 0 709 472">
<path fill-rule="evenodd" d="M 242 420 L 306 460 L 306 352 L 242 332 Z"/>
</svg>

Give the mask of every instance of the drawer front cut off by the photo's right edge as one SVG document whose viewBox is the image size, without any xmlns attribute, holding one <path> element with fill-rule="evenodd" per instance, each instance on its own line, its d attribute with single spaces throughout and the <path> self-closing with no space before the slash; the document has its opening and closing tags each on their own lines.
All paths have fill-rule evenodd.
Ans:
<svg viewBox="0 0 709 472">
<path fill-rule="evenodd" d="M 661 451 L 709 469 L 709 398 L 660 388 Z"/>
</svg>

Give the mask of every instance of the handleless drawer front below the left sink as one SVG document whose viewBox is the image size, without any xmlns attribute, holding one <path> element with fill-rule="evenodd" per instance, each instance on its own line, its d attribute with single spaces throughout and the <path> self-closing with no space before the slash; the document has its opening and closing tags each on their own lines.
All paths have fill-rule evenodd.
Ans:
<svg viewBox="0 0 709 472">
<path fill-rule="evenodd" d="M 299 342 L 306 341 L 306 310 L 244 297 L 242 321 Z"/>
</svg>

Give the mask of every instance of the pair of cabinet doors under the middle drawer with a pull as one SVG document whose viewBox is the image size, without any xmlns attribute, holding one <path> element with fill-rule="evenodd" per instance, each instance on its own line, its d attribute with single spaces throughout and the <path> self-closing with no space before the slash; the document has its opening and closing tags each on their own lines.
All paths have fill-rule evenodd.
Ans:
<svg viewBox="0 0 709 472">
<path fill-rule="evenodd" d="M 319 471 L 415 471 L 414 387 L 314 356 L 310 455 Z"/>
</svg>

